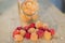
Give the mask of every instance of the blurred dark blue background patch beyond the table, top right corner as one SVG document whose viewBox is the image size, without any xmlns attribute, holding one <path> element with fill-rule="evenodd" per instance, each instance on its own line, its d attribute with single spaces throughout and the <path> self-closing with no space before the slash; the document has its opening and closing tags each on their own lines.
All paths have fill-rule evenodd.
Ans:
<svg viewBox="0 0 65 43">
<path fill-rule="evenodd" d="M 65 0 L 50 0 L 57 9 L 65 12 Z"/>
</svg>

